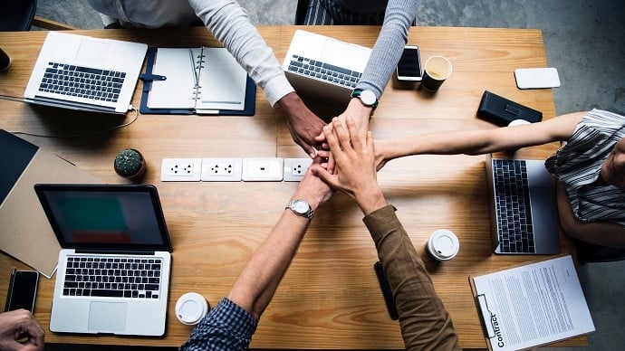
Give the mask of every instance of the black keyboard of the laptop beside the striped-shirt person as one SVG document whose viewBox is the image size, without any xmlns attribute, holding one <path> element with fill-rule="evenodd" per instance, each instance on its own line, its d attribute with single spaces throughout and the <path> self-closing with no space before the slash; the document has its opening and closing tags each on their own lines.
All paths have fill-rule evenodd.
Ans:
<svg viewBox="0 0 625 351">
<path fill-rule="evenodd" d="M 525 161 L 494 159 L 493 173 L 500 250 L 534 253 L 534 228 Z"/>
</svg>

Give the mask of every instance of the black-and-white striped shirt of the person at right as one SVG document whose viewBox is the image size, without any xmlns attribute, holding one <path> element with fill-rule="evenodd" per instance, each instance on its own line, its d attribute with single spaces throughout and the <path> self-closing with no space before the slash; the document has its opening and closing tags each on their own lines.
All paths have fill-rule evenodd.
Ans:
<svg viewBox="0 0 625 351">
<path fill-rule="evenodd" d="M 601 164 L 625 137 L 625 117 L 592 109 L 572 137 L 545 161 L 564 186 L 575 217 L 583 222 L 618 223 L 625 227 L 625 192 L 598 181 Z"/>
</svg>

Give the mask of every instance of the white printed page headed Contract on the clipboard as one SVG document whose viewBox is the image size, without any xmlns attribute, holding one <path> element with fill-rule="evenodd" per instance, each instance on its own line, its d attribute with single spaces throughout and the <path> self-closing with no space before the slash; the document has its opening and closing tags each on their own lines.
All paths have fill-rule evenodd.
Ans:
<svg viewBox="0 0 625 351">
<path fill-rule="evenodd" d="M 570 255 L 469 278 L 491 350 L 519 350 L 595 330 Z"/>
</svg>

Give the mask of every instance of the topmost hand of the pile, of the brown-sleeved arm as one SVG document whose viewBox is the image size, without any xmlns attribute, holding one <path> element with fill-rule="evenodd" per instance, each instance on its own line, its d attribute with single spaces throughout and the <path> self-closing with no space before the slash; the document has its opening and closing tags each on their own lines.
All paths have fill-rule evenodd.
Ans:
<svg viewBox="0 0 625 351">
<path fill-rule="evenodd" d="M 350 195 L 367 215 L 386 205 L 373 164 L 373 138 L 371 132 L 367 132 L 366 138 L 361 136 L 351 116 L 346 120 L 347 130 L 338 118 L 332 119 L 332 126 L 323 128 L 336 161 L 334 174 L 322 166 L 313 165 L 311 169 L 333 188 Z"/>
</svg>

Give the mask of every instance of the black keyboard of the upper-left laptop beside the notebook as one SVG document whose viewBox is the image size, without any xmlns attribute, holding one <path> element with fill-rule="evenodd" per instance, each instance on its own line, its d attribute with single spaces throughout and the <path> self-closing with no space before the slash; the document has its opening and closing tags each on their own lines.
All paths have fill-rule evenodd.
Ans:
<svg viewBox="0 0 625 351">
<path fill-rule="evenodd" d="M 117 102 L 126 73 L 48 62 L 39 91 Z"/>
</svg>

